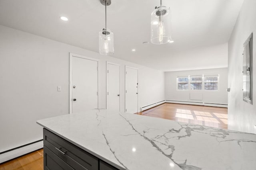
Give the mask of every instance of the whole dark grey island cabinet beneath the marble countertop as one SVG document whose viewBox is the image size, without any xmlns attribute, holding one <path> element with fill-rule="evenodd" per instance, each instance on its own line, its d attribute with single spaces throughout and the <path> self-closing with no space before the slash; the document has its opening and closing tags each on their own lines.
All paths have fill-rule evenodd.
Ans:
<svg viewBox="0 0 256 170">
<path fill-rule="evenodd" d="M 44 129 L 44 170 L 118 170 Z"/>
</svg>

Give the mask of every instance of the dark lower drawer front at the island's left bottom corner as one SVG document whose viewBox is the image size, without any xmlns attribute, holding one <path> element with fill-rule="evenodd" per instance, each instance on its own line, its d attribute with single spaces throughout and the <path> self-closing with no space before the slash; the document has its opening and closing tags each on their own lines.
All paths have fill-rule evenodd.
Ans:
<svg viewBox="0 0 256 170">
<path fill-rule="evenodd" d="M 44 146 L 44 170 L 74 170 L 56 154 Z"/>
</svg>

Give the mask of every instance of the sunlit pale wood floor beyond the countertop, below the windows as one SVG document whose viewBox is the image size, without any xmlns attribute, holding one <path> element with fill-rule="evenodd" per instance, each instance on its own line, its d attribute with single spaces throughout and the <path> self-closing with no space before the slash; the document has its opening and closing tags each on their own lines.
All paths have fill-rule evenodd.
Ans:
<svg viewBox="0 0 256 170">
<path fill-rule="evenodd" d="M 228 129 L 228 109 L 224 107 L 165 103 L 136 114 Z"/>
</svg>

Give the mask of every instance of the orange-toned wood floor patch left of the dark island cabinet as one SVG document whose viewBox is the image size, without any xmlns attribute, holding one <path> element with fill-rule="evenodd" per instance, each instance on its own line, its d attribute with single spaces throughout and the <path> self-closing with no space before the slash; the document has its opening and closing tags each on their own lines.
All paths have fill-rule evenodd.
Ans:
<svg viewBox="0 0 256 170">
<path fill-rule="evenodd" d="M 43 156 L 43 149 L 39 149 L 0 164 L 0 170 L 44 170 Z"/>
</svg>

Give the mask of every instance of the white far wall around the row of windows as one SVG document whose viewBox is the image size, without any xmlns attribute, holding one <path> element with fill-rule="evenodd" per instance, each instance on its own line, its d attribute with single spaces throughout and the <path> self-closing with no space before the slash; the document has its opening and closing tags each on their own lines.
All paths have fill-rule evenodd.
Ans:
<svg viewBox="0 0 256 170">
<path fill-rule="evenodd" d="M 199 90 L 177 90 L 176 77 L 182 75 L 198 74 L 220 74 L 218 91 L 199 91 Z M 228 104 L 227 79 L 228 68 L 188 70 L 165 72 L 165 98 L 166 100 L 184 101 L 184 102 L 202 102 L 210 104 Z M 202 93 L 203 100 L 190 100 L 190 92 Z"/>
</svg>

